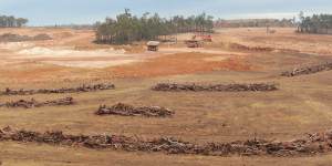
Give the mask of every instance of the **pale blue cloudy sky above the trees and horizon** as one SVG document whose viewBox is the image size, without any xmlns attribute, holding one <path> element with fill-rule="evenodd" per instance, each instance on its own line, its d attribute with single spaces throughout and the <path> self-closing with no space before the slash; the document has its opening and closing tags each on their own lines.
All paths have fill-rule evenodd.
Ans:
<svg viewBox="0 0 332 166">
<path fill-rule="evenodd" d="M 0 14 L 30 20 L 30 25 L 93 23 L 125 8 L 163 17 L 207 12 L 221 19 L 292 18 L 299 11 L 332 13 L 332 0 L 0 0 Z"/>
</svg>

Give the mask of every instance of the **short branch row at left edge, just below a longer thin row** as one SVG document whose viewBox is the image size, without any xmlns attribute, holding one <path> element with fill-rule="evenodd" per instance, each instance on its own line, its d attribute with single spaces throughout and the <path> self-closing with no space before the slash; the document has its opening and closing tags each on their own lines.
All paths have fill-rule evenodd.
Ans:
<svg viewBox="0 0 332 166">
<path fill-rule="evenodd" d="M 58 106 L 58 105 L 72 105 L 74 104 L 73 97 L 65 97 L 54 101 L 45 101 L 38 102 L 34 98 L 30 101 L 19 100 L 17 102 L 7 102 L 4 104 L 0 104 L 0 107 L 23 107 L 23 108 L 32 108 L 32 107 L 42 107 L 42 106 Z"/>
</svg>

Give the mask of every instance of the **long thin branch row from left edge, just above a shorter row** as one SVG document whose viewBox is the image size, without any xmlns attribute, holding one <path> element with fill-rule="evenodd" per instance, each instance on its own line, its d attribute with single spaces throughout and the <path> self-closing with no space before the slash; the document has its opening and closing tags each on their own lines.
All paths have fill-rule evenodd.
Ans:
<svg viewBox="0 0 332 166">
<path fill-rule="evenodd" d="M 85 85 L 79 87 L 62 87 L 54 90 L 10 90 L 6 89 L 0 92 L 0 95 L 32 95 L 32 94 L 50 94 L 50 93 L 76 93 L 76 92 L 95 92 L 104 90 L 114 90 L 114 84 L 95 84 L 95 85 Z"/>
</svg>

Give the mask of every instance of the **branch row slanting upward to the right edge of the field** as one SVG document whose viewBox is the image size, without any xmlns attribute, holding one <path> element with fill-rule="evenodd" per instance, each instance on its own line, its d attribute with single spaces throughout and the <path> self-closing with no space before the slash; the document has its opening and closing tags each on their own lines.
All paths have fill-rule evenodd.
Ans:
<svg viewBox="0 0 332 166">
<path fill-rule="evenodd" d="M 292 77 L 299 75 L 314 74 L 318 72 L 330 71 L 330 70 L 332 70 L 332 62 L 312 65 L 312 66 L 304 66 L 300 69 L 293 69 L 292 71 L 287 71 L 281 73 L 281 76 Z"/>
</svg>

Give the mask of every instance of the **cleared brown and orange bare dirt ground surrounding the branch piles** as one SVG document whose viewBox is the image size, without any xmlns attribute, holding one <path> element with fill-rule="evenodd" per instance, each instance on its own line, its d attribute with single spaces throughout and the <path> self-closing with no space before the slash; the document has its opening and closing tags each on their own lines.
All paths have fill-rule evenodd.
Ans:
<svg viewBox="0 0 332 166">
<path fill-rule="evenodd" d="M 332 71 L 281 77 L 294 66 L 332 60 L 332 37 L 297 34 L 294 29 L 227 29 L 205 49 L 162 45 L 93 44 L 92 31 L 70 29 L 1 29 L 27 35 L 46 33 L 43 42 L 0 43 L 0 89 L 55 89 L 111 82 L 115 90 L 70 94 L 70 107 L 0 108 L 0 127 L 63 131 L 66 134 L 117 134 L 154 138 L 172 136 L 195 143 L 245 141 L 255 137 L 291 141 L 332 128 Z M 180 41 L 190 34 L 179 35 Z M 232 46 L 242 45 L 242 46 Z M 242 49 L 242 48 L 247 49 Z M 270 48 L 259 51 L 255 48 Z M 249 49 L 248 49 L 249 48 Z M 273 92 L 154 92 L 159 82 L 274 82 Z M 68 94 L 0 96 L 0 103 L 31 97 L 39 101 Z M 159 105 L 172 118 L 95 116 L 101 104 Z M 302 157 L 208 157 L 127 153 L 34 143 L 0 143 L 2 165 L 312 165 L 328 166 L 332 154 Z M 1 165 L 1 164 L 0 164 Z"/>
</svg>

